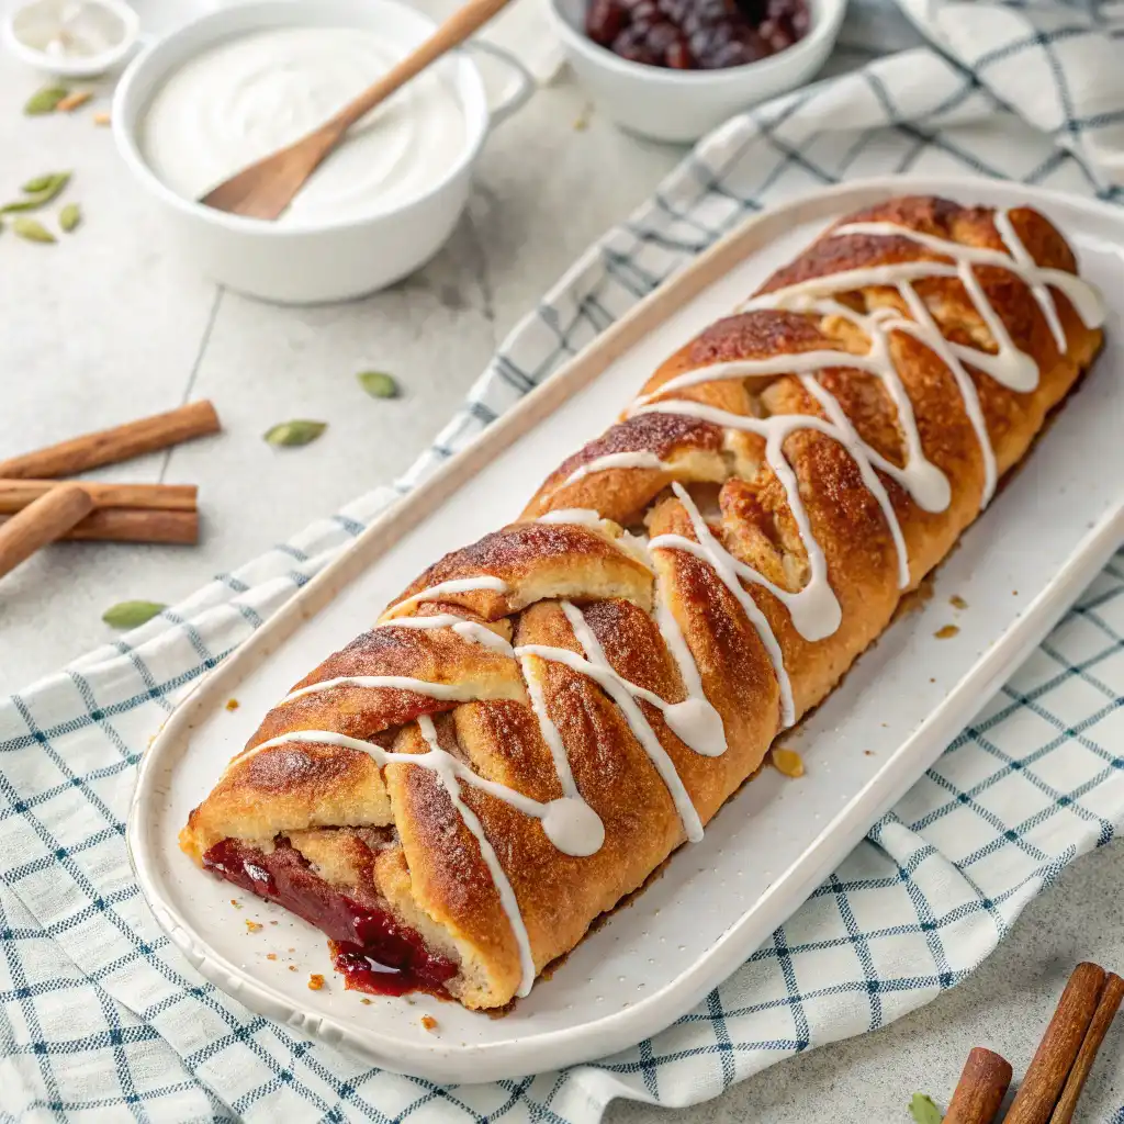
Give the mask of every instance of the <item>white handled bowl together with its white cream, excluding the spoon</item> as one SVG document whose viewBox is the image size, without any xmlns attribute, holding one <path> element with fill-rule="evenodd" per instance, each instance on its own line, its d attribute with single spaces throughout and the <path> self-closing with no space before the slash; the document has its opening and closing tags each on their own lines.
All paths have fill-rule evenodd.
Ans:
<svg viewBox="0 0 1124 1124">
<path fill-rule="evenodd" d="M 424 265 L 464 209 L 489 126 L 529 96 L 524 73 L 489 108 L 475 64 L 451 54 L 355 126 L 274 223 L 197 200 L 321 124 L 434 26 L 395 0 L 259 0 L 144 51 L 117 88 L 114 130 L 183 255 L 283 303 L 346 300 Z"/>
</svg>

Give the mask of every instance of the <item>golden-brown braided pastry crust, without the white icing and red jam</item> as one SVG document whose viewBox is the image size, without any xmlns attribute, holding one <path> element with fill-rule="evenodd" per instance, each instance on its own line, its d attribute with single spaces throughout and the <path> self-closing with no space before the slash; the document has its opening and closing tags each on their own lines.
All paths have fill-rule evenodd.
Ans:
<svg viewBox="0 0 1124 1124">
<path fill-rule="evenodd" d="M 1072 252 L 1045 218 L 1028 208 L 1015 209 L 1008 218 L 1039 266 L 1076 272 Z M 844 221 L 889 223 L 1009 253 L 992 211 L 948 200 L 890 200 Z M 906 235 L 828 230 L 759 292 L 855 269 L 951 261 Z M 1067 341 L 1062 351 L 1039 299 L 1019 277 L 991 264 L 977 264 L 972 272 L 1012 344 L 1034 360 L 1040 373 L 1036 388 L 1022 392 L 968 366 L 1001 474 L 1024 455 L 1046 414 L 1093 361 L 1100 333 L 1086 327 L 1066 294 L 1051 287 Z M 960 277 L 919 277 L 910 283 L 948 343 L 996 353 L 997 341 Z M 816 371 L 818 384 L 834 397 L 858 439 L 901 469 L 906 426 L 883 381 L 849 365 L 849 360 L 865 356 L 872 342 L 861 323 L 844 314 L 889 316 L 878 314 L 885 309 L 909 320 L 914 312 L 903 290 L 889 284 L 863 283 L 836 292 L 835 299 L 844 306 L 841 311 L 754 308 L 717 321 L 649 379 L 649 397 L 641 400 L 674 398 L 726 416 L 798 414 L 828 423 L 823 402 L 797 373 L 726 377 L 670 393 L 662 388 L 711 364 L 839 352 L 837 365 Z M 823 428 L 795 428 L 782 447 L 810 541 L 823 553 L 841 610 L 841 623 L 830 635 L 807 638 L 786 604 L 761 584 L 742 582 L 735 596 L 711 561 L 697 552 L 656 543 L 645 558 L 622 528 L 643 523 L 652 540 L 699 541 L 685 506 L 687 493 L 669 488 L 676 482 L 688 486 L 692 501 L 706 508 L 709 534 L 726 555 L 778 591 L 805 589 L 813 565 L 808 538 L 767 457 L 763 436 L 683 414 L 626 415 L 552 473 L 519 522 L 430 566 L 390 606 L 379 627 L 297 685 L 393 676 L 444 685 L 460 692 L 456 698 L 344 683 L 282 703 L 191 814 L 182 833 L 184 850 L 199 861 L 228 837 L 263 851 L 287 839 L 325 882 L 386 904 L 399 922 L 456 963 L 457 975 L 446 986 L 462 1001 L 477 1007 L 508 1003 L 524 976 L 517 925 L 442 776 L 399 759 L 380 768 L 362 749 L 284 742 L 285 735 L 326 731 L 396 754 L 424 754 L 433 751 L 433 741 L 426 741 L 416 719 L 433 715 L 433 736 L 450 760 L 545 805 L 566 795 L 546 733 L 556 729 L 577 790 L 604 824 L 605 841 L 593 854 L 565 854 L 547 837 L 541 818 L 477 785 L 459 788 L 510 885 L 534 971 L 541 971 L 683 842 L 688 817 L 677 809 L 636 723 L 605 682 L 580 665 L 525 650 L 546 645 L 589 659 L 588 643 L 568 616 L 565 602 L 573 602 L 618 680 L 651 692 L 656 703 L 679 704 L 689 697 L 690 685 L 669 646 L 667 622 L 660 625 L 658 615 L 670 614 L 706 699 L 722 717 L 727 749 L 719 755 L 697 752 L 672 731 L 662 706 L 636 692 L 634 705 L 698 819 L 706 823 L 760 767 L 785 717 L 776 659 L 765 633 L 750 619 L 745 599 L 752 599 L 776 637 L 791 685 L 792 717 L 798 717 L 835 686 L 887 626 L 906 589 L 940 562 L 980 510 L 987 487 L 985 448 L 954 372 L 909 332 L 886 335 L 921 447 L 951 493 L 943 509 L 924 510 L 891 474 L 878 472 L 906 545 L 908 582 L 899 580 L 891 525 L 858 460 Z M 638 461 L 640 454 L 647 456 Z M 599 468 L 606 456 L 613 460 Z M 606 522 L 534 522 L 575 508 L 596 511 Z M 481 575 L 489 583 L 471 587 Z M 471 588 L 463 588 L 464 582 Z M 441 588 L 426 597 L 424 591 L 434 587 Z M 481 643 L 451 627 L 393 624 L 450 614 L 474 627 L 487 626 L 500 643 Z M 516 658 L 502 641 L 524 654 Z M 535 711 L 536 696 L 545 715 Z M 256 749 L 272 740 L 280 743 Z M 371 850 L 374 836 L 364 842 L 353 832 L 333 831 L 344 827 L 377 828 L 381 842 Z"/>
</svg>

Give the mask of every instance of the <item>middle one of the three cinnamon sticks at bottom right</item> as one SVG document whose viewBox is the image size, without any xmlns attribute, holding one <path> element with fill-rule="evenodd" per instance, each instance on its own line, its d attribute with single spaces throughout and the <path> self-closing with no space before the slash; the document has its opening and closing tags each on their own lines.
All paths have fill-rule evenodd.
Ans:
<svg viewBox="0 0 1124 1124">
<path fill-rule="evenodd" d="M 1049 1124 L 1105 986 L 1105 970 L 1082 962 L 1073 969 L 1053 1018 L 1034 1053 L 1006 1124 Z"/>
</svg>

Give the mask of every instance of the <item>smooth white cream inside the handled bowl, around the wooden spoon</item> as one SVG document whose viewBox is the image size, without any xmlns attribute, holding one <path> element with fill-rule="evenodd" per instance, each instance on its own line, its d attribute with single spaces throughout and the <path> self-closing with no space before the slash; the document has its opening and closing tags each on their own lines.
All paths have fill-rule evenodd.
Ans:
<svg viewBox="0 0 1124 1124">
<path fill-rule="evenodd" d="M 142 117 L 140 151 L 165 187 L 199 199 L 323 125 L 400 56 L 374 30 L 251 31 L 201 52 L 167 79 Z M 393 210 L 445 179 L 468 139 L 455 88 L 425 72 L 348 130 L 278 221 Z"/>
</svg>

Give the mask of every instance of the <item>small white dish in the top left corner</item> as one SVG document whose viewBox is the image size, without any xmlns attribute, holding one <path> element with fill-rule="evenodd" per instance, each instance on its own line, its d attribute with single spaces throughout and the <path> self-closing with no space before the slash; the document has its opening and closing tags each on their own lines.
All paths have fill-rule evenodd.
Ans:
<svg viewBox="0 0 1124 1124">
<path fill-rule="evenodd" d="M 7 13 L 0 38 L 36 70 L 96 78 L 125 61 L 140 38 L 140 21 L 123 0 L 30 0 Z"/>
</svg>

